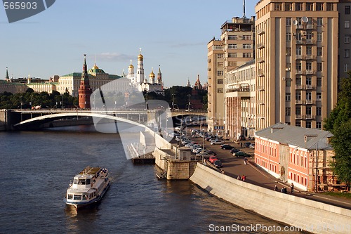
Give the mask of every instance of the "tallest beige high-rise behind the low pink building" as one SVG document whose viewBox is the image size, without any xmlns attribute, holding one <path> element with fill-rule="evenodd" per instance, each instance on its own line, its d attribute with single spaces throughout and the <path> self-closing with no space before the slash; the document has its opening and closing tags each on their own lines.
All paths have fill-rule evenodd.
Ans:
<svg viewBox="0 0 351 234">
<path fill-rule="evenodd" d="M 338 91 L 338 0 L 256 4 L 256 130 L 322 129 Z"/>
</svg>

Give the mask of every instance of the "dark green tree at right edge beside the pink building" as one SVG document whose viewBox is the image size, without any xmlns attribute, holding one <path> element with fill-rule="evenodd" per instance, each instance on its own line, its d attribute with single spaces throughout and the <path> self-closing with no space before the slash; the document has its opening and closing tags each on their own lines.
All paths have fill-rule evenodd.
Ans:
<svg viewBox="0 0 351 234">
<path fill-rule="evenodd" d="M 334 129 L 334 136 L 331 139 L 333 145 L 334 161 L 331 163 L 333 172 L 340 181 L 350 187 L 351 182 L 351 119 Z"/>
</svg>

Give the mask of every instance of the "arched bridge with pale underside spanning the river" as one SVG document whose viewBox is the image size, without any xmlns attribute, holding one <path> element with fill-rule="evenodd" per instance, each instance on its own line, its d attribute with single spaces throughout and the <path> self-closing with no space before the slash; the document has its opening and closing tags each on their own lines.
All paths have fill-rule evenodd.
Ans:
<svg viewBox="0 0 351 234">
<path fill-rule="evenodd" d="M 145 126 L 152 119 L 157 119 L 157 113 L 164 110 L 80 110 L 80 109 L 40 109 L 40 110 L 23 110 L 12 109 L 2 110 L 0 112 L 0 129 L 40 129 L 44 124 L 53 121 L 67 121 L 68 126 L 73 122 L 89 122 L 92 117 L 100 119 L 113 119 L 114 121 L 127 122 L 130 124 Z M 166 112 L 166 118 L 201 115 L 206 116 L 206 110 L 172 110 Z M 79 120 L 79 121 L 78 121 Z M 67 126 L 66 125 L 66 126 Z M 4 127 L 5 126 L 5 127 Z M 48 125 L 50 126 L 50 125 Z M 52 126 L 52 124 L 51 124 Z"/>
</svg>

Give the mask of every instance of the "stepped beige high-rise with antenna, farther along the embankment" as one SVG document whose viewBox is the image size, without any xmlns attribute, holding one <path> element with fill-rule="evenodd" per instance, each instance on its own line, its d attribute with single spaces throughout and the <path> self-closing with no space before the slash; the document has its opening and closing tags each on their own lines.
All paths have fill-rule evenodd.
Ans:
<svg viewBox="0 0 351 234">
<path fill-rule="evenodd" d="M 220 27 L 208 48 L 208 130 L 225 134 L 226 73 L 254 58 L 255 18 L 234 17 Z"/>
</svg>

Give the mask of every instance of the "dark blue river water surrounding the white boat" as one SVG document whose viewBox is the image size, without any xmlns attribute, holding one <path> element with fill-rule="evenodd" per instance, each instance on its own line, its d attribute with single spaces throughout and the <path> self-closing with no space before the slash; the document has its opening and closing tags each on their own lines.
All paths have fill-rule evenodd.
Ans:
<svg viewBox="0 0 351 234">
<path fill-rule="evenodd" d="M 112 184 L 98 206 L 76 212 L 62 199 L 69 181 L 88 165 L 110 169 Z M 221 228 L 277 233 L 284 228 L 190 181 L 158 180 L 154 165 L 126 160 L 119 134 L 101 134 L 93 126 L 0 132 L 0 178 L 0 233 L 213 233 Z"/>
</svg>

